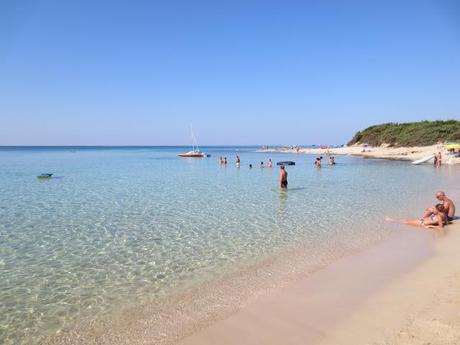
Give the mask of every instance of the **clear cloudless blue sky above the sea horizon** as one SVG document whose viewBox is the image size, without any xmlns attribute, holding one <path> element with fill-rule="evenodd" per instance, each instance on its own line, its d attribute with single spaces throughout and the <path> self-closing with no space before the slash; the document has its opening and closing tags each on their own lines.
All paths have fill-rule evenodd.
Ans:
<svg viewBox="0 0 460 345">
<path fill-rule="evenodd" d="M 0 0 L 0 145 L 341 144 L 460 119 L 460 2 Z"/>
</svg>

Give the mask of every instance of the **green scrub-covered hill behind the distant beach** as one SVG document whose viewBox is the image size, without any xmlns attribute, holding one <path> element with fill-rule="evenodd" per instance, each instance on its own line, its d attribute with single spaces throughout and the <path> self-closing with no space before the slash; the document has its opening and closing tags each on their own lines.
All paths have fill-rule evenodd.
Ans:
<svg viewBox="0 0 460 345">
<path fill-rule="evenodd" d="M 385 123 L 357 132 L 348 145 L 428 146 L 446 140 L 460 140 L 460 121 Z"/>
</svg>

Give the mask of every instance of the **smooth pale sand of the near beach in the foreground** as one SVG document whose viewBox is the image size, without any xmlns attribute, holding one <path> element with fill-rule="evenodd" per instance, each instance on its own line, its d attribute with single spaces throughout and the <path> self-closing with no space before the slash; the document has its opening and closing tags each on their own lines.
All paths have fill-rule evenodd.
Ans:
<svg viewBox="0 0 460 345">
<path fill-rule="evenodd" d="M 180 342 L 458 345 L 460 222 L 408 229 L 246 305 Z"/>
</svg>

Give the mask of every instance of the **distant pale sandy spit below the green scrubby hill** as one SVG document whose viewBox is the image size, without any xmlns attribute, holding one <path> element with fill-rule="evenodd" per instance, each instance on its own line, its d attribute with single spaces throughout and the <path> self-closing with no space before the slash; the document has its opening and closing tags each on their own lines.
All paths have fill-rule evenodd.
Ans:
<svg viewBox="0 0 460 345">
<path fill-rule="evenodd" d="M 294 150 L 290 148 L 268 148 L 261 150 L 261 152 L 290 152 L 299 154 L 312 154 L 312 155 L 326 155 L 325 149 L 322 148 L 303 148 Z M 443 154 L 443 164 L 459 164 L 460 157 L 446 156 L 447 151 L 441 145 L 431 146 L 417 146 L 417 147 L 363 147 L 362 145 L 352 145 L 346 147 L 331 148 L 330 153 L 333 155 L 353 155 L 362 156 L 367 158 L 381 158 L 381 159 L 394 159 L 394 160 L 408 160 L 415 161 L 427 157 L 433 153 L 441 151 Z M 432 162 L 432 161 L 430 161 Z"/>
</svg>

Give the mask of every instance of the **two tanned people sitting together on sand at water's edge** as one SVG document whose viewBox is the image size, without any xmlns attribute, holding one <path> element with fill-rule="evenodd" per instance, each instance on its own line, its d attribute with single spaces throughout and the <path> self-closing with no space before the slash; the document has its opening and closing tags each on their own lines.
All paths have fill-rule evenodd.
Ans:
<svg viewBox="0 0 460 345">
<path fill-rule="evenodd" d="M 454 202 L 446 196 L 446 193 L 436 192 L 436 199 L 439 201 L 433 207 L 428 207 L 420 219 L 394 220 L 386 217 L 387 222 L 419 226 L 424 228 L 440 228 L 448 225 L 455 218 Z"/>
</svg>

